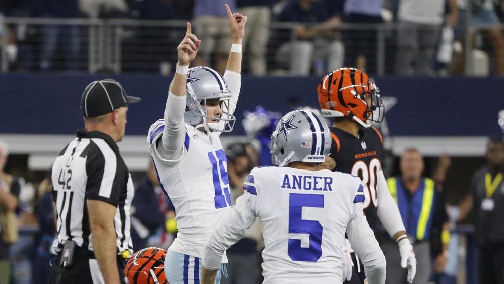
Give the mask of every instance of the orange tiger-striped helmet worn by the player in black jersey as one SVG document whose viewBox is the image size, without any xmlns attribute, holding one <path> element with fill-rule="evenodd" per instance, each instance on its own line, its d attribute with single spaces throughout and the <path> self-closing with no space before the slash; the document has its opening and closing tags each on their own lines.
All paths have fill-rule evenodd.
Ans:
<svg viewBox="0 0 504 284">
<path fill-rule="evenodd" d="M 364 127 L 383 119 L 380 91 L 369 76 L 356 68 L 340 68 L 322 78 L 317 87 L 325 117 L 348 117 Z"/>
</svg>

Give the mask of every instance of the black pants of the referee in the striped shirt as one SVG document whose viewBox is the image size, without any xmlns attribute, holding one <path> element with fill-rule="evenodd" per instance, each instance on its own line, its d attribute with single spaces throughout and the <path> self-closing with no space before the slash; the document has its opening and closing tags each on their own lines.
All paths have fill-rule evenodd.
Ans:
<svg viewBox="0 0 504 284">
<path fill-rule="evenodd" d="M 60 260 L 61 252 L 52 267 L 50 284 L 104 284 L 98 261 L 91 252 L 76 247 L 74 263 L 70 268 L 61 268 Z M 125 261 L 120 256 L 117 256 L 117 267 L 121 284 L 126 284 Z"/>
</svg>

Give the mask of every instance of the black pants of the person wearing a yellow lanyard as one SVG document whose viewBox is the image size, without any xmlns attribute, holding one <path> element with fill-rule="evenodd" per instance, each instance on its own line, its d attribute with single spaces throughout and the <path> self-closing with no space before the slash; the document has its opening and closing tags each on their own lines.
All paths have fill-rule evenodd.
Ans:
<svg viewBox="0 0 504 284">
<path fill-rule="evenodd" d="M 504 284 L 504 247 L 479 248 L 479 282 Z"/>
</svg>

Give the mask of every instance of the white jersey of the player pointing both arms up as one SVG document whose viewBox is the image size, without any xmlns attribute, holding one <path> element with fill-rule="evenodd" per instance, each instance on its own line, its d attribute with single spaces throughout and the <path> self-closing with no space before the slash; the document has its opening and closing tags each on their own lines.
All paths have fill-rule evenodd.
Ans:
<svg viewBox="0 0 504 284">
<path fill-rule="evenodd" d="M 207 135 L 185 124 L 183 153 L 167 160 L 156 146 L 164 127 L 164 119 L 152 124 L 147 139 L 161 188 L 175 207 L 178 234 L 168 250 L 201 258 L 212 230 L 231 206 L 220 133 Z M 227 263 L 225 254 L 222 262 Z"/>
</svg>

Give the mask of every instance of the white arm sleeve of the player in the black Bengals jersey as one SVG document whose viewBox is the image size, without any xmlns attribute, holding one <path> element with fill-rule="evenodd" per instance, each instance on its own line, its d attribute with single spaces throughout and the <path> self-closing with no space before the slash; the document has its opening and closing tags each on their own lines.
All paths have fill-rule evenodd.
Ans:
<svg viewBox="0 0 504 284">
<path fill-rule="evenodd" d="M 399 208 L 392 195 L 390 195 L 389 187 L 382 170 L 377 173 L 377 179 L 378 218 L 390 236 L 394 236 L 399 231 L 406 231 Z"/>
</svg>

